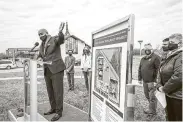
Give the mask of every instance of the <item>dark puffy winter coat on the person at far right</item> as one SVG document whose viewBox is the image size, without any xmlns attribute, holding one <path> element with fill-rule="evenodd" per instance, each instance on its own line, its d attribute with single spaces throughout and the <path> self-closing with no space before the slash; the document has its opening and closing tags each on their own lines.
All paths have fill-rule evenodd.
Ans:
<svg viewBox="0 0 183 122">
<path fill-rule="evenodd" d="M 160 66 L 160 81 L 168 97 L 182 99 L 182 49 L 169 55 Z"/>
</svg>

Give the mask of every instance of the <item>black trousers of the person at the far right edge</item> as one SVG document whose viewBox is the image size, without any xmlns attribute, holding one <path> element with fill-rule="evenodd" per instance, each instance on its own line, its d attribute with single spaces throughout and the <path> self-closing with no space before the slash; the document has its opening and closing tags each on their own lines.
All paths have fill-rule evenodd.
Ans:
<svg viewBox="0 0 183 122">
<path fill-rule="evenodd" d="M 182 100 L 166 96 L 168 121 L 182 121 Z"/>
</svg>

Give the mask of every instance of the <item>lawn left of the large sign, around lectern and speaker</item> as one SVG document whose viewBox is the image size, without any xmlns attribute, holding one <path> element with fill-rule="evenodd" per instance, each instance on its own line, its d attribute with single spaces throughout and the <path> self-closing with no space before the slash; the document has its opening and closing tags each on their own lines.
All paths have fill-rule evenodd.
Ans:
<svg viewBox="0 0 183 122">
<path fill-rule="evenodd" d="M 38 85 L 38 102 L 47 102 L 48 96 L 46 91 L 45 81 Z M 10 109 L 16 109 L 23 105 L 23 81 L 9 80 L 0 81 L 0 120 L 8 121 L 7 112 Z M 75 79 L 75 91 L 68 92 L 68 84 L 64 80 L 64 101 L 80 108 L 83 111 L 88 110 L 88 96 L 84 96 L 86 92 L 83 79 Z"/>
</svg>

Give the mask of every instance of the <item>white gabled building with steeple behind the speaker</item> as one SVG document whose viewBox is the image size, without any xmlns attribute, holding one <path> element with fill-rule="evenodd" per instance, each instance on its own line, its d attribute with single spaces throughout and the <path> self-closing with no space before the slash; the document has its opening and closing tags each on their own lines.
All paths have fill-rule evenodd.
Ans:
<svg viewBox="0 0 183 122">
<path fill-rule="evenodd" d="M 73 56 L 76 58 L 76 60 L 80 60 L 82 53 L 83 53 L 83 48 L 85 46 L 88 46 L 91 48 L 90 45 L 85 43 L 83 40 L 78 38 L 75 35 L 71 35 L 68 29 L 68 23 L 66 23 L 66 32 L 65 36 L 70 36 L 67 40 L 65 40 L 65 44 L 61 45 L 61 54 L 62 58 L 65 59 L 67 56 L 68 50 L 73 50 Z"/>
</svg>

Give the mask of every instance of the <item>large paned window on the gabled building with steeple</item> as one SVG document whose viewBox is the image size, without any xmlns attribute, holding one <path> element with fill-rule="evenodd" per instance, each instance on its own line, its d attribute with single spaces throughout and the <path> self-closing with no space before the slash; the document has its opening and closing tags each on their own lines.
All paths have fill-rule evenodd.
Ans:
<svg viewBox="0 0 183 122">
<path fill-rule="evenodd" d="M 78 54 L 78 40 L 75 40 L 74 38 L 68 38 L 66 40 L 66 54 L 68 54 L 68 50 L 73 50 L 74 54 Z"/>
</svg>

